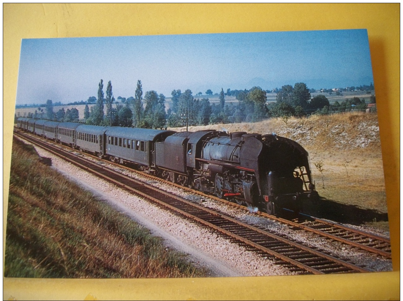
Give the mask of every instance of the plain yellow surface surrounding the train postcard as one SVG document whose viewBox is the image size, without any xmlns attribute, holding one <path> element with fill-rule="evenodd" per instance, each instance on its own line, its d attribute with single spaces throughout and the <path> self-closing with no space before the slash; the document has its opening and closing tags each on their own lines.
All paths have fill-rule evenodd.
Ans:
<svg viewBox="0 0 403 301">
<path fill-rule="evenodd" d="M 3 4 L 4 217 L 21 39 L 368 29 L 394 270 L 352 275 L 158 280 L 4 278 L 4 300 L 399 299 L 399 19 L 400 4 Z M 4 245 L 5 218 L 3 227 Z"/>
</svg>

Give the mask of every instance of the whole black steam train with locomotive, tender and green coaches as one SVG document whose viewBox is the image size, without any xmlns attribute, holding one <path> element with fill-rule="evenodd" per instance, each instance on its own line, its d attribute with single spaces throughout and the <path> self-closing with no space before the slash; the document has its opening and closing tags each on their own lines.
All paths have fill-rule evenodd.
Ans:
<svg viewBox="0 0 403 301">
<path fill-rule="evenodd" d="M 275 134 L 174 132 L 18 118 L 20 129 L 269 214 L 318 197 L 308 153 Z"/>
</svg>

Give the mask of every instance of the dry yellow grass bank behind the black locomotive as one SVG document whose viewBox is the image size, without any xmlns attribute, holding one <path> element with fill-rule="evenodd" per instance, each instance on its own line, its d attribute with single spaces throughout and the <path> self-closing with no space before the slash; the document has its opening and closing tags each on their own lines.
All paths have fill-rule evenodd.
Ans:
<svg viewBox="0 0 403 301">
<path fill-rule="evenodd" d="M 189 127 L 189 131 L 206 128 L 276 133 L 293 139 L 309 153 L 312 176 L 321 197 L 387 212 L 376 114 L 351 112 L 287 120 L 272 118 L 255 123 Z M 323 164 L 322 173 L 314 165 L 318 162 Z"/>
</svg>

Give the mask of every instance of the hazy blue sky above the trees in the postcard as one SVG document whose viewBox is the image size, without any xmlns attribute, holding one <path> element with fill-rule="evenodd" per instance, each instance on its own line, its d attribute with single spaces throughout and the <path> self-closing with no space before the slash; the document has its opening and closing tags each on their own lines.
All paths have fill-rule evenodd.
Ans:
<svg viewBox="0 0 403 301">
<path fill-rule="evenodd" d="M 373 82 L 365 29 L 22 40 L 17 104 L 87 100 L 100 79 L 104 92 L 112 81 L 115 99 L 134 96 L 138 79 L 143 95 L 166 97 L 173 89 Z"/>
</svg>

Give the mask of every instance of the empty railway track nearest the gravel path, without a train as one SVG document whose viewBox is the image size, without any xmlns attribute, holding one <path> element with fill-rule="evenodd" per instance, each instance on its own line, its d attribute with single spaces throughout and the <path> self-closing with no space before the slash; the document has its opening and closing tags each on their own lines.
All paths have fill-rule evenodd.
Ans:
<svg viewBox="0 0 403 301">
<path fill-rule="evenodd" d="M 199 222 L 204 226 L 208 226 L 220 232 L 222 235 L 230 237 L 231 240 L 237 241 L 241 245 L 247 246 L 247 248 L 253 249 L 266 257 L 276 258 L 278 264 L 282 264 L 292 271 L 302 274 L 367 272 L 366 269 L 355 266 L 349 262 L 310 249 L 309 247 L 286 239 L 285 237 L 274 235 L 260 228 L 256 228 L 229 216 L 225 216 L 224 214 L 214 212 L 208 208 L 204 208 L 190 201 L 160 191 L 155 187 L 128 176 L 124 176 L 109 168 L 100 166 L 99 164 L 72 154 L 71 152 L 63 151 L 60 147 L 49 145 L 39 139 L 33 141 L 31 136 L 26 134 L 22 135 L 22 138 L 30 140 L 32 143 L 35 143 L 58 156 L 64 157 L 67 161 L 81 166 L 82 168 L 97 174 L 120 187 L 132 191 L 153 203 L 157 203 L 159 206 L 168 208 L 176 214 L 180 214 L 186 218 Z M 303 227 L 308 226 L 304 225 Z"/>
</svg>

